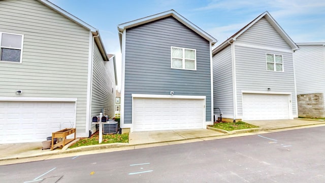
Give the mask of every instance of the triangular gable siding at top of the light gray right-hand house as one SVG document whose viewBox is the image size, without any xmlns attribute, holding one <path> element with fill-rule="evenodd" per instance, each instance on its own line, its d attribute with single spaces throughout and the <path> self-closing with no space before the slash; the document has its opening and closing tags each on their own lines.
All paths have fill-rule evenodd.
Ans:
<svg viewBox="0 0 325 183">
<path fill-rule="evenodd" d="M 236 42 L 291 50 L 266 18 L 261 18 L 248 28 Z"/>
</svg>

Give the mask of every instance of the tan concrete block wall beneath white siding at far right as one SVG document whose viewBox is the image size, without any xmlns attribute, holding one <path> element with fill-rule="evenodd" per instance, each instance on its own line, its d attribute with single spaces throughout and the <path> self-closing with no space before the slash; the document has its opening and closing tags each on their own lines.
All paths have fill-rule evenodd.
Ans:
<svg viewBox="0 0 325 183">
<path fill-rule="evenodd" d="M 325 117 L 323 93 L 297 95 L 298 115 L 301 117 Z"/>
</svg>

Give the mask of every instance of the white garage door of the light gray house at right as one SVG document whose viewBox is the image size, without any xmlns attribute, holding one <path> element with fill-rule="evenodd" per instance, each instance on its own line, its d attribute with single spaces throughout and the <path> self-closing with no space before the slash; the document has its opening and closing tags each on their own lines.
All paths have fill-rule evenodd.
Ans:
<svg viewBox="0 0 325 183">
<path fill-rule="evenodd" d="M 289 119 L 289 95 L 243 94 L 243 119 Z"/>
</svg>

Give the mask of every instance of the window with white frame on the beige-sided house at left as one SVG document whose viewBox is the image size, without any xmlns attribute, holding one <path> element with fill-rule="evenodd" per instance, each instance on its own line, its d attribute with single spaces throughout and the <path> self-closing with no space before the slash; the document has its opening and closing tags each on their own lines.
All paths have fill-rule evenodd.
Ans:
<svg viewBox="0 0 325 183">
<path fill-rule="evenodd" d="M 0 61 L 21 63 L 23 35 L 0 32 Z"/>
</svg>

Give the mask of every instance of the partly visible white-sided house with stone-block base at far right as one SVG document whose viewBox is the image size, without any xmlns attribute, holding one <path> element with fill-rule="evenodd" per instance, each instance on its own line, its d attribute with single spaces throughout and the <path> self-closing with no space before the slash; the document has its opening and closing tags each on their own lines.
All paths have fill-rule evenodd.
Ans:
<svg viewBox="0 0 325 183">
<path fill-rule="evenodd" d="M 297 43 L 294 53 L 298 114 L 325 117 L 325 43 Z"/>
</svg>

